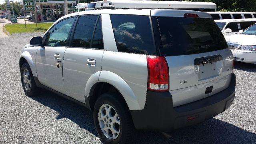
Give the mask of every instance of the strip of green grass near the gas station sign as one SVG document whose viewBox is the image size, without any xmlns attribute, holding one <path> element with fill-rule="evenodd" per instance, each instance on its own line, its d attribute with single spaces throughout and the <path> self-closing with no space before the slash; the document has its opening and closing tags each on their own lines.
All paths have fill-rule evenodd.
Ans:
<svg viewBox="0 0 256 144">
<path fill-rule="evenodd" d="M 38 23 L 37 28 L 36 24 L 26 24 L 26 28 L 25 24 L 7 24 L 5 28 L 10 34 L 22 32 L 46 32 L 52 24 L 53 23 Z"/>
</svg>

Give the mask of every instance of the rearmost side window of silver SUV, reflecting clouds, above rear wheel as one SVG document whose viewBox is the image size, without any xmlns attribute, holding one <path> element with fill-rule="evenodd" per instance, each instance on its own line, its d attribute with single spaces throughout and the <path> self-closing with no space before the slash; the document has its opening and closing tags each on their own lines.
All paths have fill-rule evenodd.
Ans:
<svg viewBox="0 0 256 144">
<path fill-rule="evenodd" d="M 149 16 L 110 14 L 118 52 L 156 55 Z"/>
</svg>

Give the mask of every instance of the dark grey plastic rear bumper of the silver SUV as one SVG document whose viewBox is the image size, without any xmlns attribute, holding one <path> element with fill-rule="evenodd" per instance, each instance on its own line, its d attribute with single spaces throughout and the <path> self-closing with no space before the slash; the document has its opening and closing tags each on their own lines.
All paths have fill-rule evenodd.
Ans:
<svg viewBox="0 0 256 144">
<path fill-rule="evenodd" d="M 169 92 L 147 91 L 143 110 L 130 110 L 138 130 L 170 131 L 198 124 L 228 109 L 234 102 L 236 76 L 232 73 L 230 86 L 207 98 L 173 107 Z M 192 120 L 187 120 L 193 117 Z"/>
</svg>

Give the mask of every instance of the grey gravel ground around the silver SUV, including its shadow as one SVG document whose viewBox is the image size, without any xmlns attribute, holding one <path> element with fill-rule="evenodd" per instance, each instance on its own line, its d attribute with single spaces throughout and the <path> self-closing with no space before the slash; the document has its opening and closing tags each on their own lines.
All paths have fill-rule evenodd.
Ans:
<svg viewBox="0 0 256 144">
<path fill-rule="evenodd" d="M 92 112 L 52 92 L 24 95 L 18 60 L 20 48 L 42 33 L 0 39 L 0 143 L 100 144 Z M 165 136 L 136 132 L 138 144 L 256 144 L 256 66 L 236 62 L 234 104 L 222 114 Z"/>
</svg>

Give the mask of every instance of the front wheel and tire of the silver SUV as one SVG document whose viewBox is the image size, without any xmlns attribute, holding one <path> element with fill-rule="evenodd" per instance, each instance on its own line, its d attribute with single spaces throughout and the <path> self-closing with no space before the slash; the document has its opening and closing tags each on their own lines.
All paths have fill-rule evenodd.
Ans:
<svg viewBox="0 0 256 144">
<path fill-rule="evenodd" d="M 28 63 L 24 63 L 20 69 L 20 79 L 22 88 L 26 96 L 36 96 L 40 89 L 36 86 L 34 76 Z"/>
</svg>

